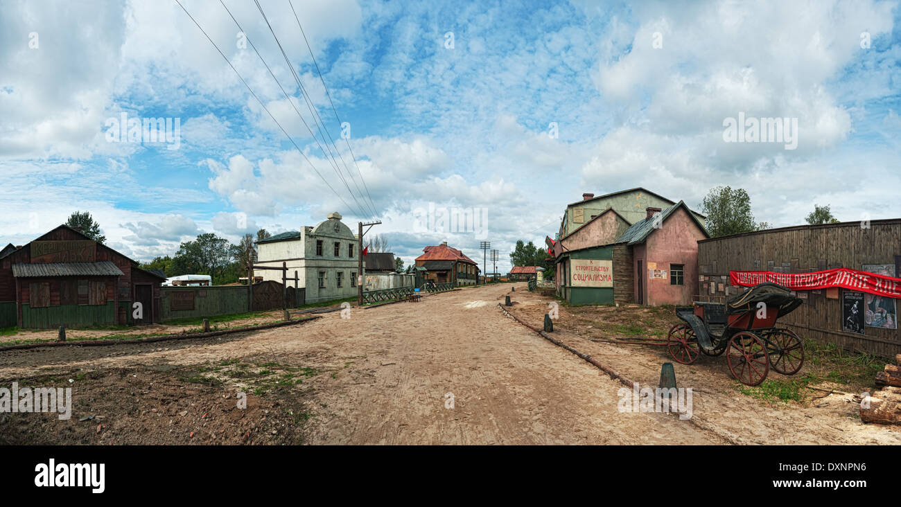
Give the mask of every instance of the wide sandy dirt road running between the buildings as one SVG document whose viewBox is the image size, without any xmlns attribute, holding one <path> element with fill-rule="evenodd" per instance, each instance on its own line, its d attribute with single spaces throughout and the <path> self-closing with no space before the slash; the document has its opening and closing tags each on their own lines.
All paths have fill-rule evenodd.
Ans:
<svg viewBox="0 0 901 507">
<path fill-rule="evenodd" d="M 542 312 L 547 301 L 524 289 L 517 286 L 513 311 Z M 719 361 L 677 365 L 681 385 L 704 391 L 694 396 L 697 424 L 619 412 L 623 385 L 505 317 L 496 303 L 508 290 L 469 288 L 221 340 L 9 351 L 0 353 L 0 385 L 79 369 L 160 371 L 241 360 L 318 372 L 287 392 L 312 416 L 303 441 L 314 444 L 901 443 L 901 431 L 853 421 L 854 403 L 841 399 L 832 409 L 764 406 L 730 390 L 714 366 Z M 642 386 L 655 386 L 668 360 L 660 350 L 555 336 Z M 219 376 L 223 395 L 246 388 L 240 378 Z M 78 398 L 78 384 L 73 389 Z M 451 394 L 453 408 L 446 408 Z M 116 414 L 105 417 L 115 428 Z"/>
</svg>

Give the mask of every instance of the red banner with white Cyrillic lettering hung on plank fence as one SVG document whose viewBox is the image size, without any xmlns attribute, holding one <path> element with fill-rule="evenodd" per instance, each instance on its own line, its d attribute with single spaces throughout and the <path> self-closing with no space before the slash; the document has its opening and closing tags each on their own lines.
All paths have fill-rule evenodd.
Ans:
<svg viewBox="0 0 901 507">
<path fill-rule="evenodd" d="M 732 285 L 751 287 L 764 282 L 783 285 L 789 289 L 809 291 L 828 287 L 842 287 L 869 294 L 901 298 L 901 278 L 881 276 L 866 271 L 839 267 L 815 273 L 773 273 L 772 271 L 730 271 Z"/>
</svg>

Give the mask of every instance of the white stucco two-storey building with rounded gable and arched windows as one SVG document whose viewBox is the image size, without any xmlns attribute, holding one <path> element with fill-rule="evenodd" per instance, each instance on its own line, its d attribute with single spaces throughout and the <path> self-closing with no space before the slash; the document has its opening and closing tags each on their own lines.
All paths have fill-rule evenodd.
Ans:
<svg viewBox="0 0 901 507">
<path fill-rule="evenodd" d="M 287 276 L 297 271 L 297 284 L 306 289 L 306 303 L 317 303 L 357 295 L 357 250 L 357 236 L 334 212 L 315 227 L 257 241 L 257 264 L 281 267 L 287 263 Z M 260 269 L 254 275 L 281 283 L 281 271 Z"/>
</svg>

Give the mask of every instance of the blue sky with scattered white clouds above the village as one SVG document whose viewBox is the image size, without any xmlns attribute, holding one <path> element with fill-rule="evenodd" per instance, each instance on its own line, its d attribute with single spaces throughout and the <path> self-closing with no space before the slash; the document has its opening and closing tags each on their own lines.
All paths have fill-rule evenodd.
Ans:
<svg viewBox="0 0 901 507">
<path fill-rule="evenodd" d="M 218 50 L 174 0 L 2 1 L 0 242 L 88 211 L 149 261 L 338 212 L 406 264 L 488 240 L 506 272 L 583 193 L 901 217 L 896 2 L 179 1 Z M 729 140 L 740 117 L 795 142 Z"/>
</svg>

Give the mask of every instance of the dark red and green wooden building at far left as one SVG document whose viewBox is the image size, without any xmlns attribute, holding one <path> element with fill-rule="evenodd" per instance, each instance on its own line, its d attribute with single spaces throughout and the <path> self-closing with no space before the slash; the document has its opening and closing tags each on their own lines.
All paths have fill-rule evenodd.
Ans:
<svg viewBox="0 0 901 507">
<path fill-rule="evenodd" d="M 67 225 L 0 257 L 0 327 L 159 322 L 159 273 Z M 141 319 L 132 303 L 141 303 Z"/>
</svg>

